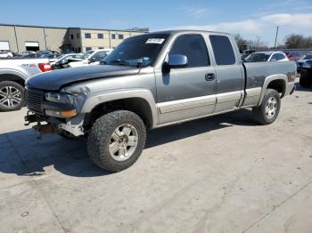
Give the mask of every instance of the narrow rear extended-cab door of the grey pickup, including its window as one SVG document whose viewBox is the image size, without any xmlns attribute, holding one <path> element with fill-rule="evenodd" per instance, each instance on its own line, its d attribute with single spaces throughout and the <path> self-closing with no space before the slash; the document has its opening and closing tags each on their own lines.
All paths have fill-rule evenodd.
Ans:
<svg viewBox="0 0 312 233">
<path fill-rule="evenodd" d="M 244 71 L 231 36 L 209 35 L 217 78 L 217 105 L 214 112 L 239 107 L 243 97 Z"/>
</svg>

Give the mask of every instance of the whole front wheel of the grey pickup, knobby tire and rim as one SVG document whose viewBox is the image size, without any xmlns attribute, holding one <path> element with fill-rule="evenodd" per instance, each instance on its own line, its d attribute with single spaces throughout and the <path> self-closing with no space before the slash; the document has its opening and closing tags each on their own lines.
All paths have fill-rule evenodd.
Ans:
<svg viewBox="0 0 312 233">
<path fill-rule="evenodd" d="M 119 172 L 141 156 L 146 140 L 143 120 L 135 113 L 118 110 L 98 118 L 87 139 L 87 151 L 95 165 Z"/>
</svg>

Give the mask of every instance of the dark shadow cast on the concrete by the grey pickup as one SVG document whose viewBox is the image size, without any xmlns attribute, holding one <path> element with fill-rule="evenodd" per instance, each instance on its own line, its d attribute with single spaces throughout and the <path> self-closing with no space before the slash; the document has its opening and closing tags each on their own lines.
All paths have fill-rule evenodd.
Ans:
<svg viewBox="0 0 312 233">
<path fill-rule="evenodd" d="M 147 134 L 145 148 L 233 125 L 254 126 L 250 110 L 242 109 L 152 130 Z M 110 174 L 98 168 L 87 157 L 86 139 L 69 141 L 58 135 L 46 135 L 38 140 L 37 133 L 32 129 L 0 134 L 0 173 L 41 176 L 53 171 L 48 168 L 51 165 L 60 173 L 76 177 Z"/>
</svg>

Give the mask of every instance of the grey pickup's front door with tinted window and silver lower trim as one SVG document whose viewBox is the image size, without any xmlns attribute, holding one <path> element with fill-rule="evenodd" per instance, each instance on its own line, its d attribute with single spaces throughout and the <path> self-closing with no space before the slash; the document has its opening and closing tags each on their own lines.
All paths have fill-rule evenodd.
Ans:
<svg viewBox="0 0 312 233">
<path fill-rule="evenodd" d="M 204 36 L 178 35 L 168 47 L 167 58 L 177 54 L 187 57 L 186 67 L 155 72 L 160 125 L 209 115 L 216 104 L 215 69 Z"/>
</svg>

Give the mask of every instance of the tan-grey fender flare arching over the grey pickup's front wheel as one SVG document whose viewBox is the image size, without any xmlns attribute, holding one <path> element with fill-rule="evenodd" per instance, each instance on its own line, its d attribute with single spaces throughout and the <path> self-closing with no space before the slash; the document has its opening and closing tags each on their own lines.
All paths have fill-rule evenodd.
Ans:
<svg viewBox="0 0 312 233">
<path fill-rule="evenodd" d="M 145 89 L 131 89 L 131 90 L 120 90 L 113 92 L 103 92 L 101 94 L 96 94 L 94 96 L 90 96 L 86 99 L 83 107 L 81 108 L 81 113 L 89 113 L 93 108 L 102 104 L 104 102 L 108 102 L 111 100 L 123 100 L 130 98 L 141 98 L 148 102 L 151 112 L 152 112 L 152 128 L 155 127 L 158 123 L 158 114 L 156 108 L 156 102 L 152 95 L 152 92 Z"/>
</svg>

